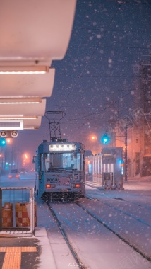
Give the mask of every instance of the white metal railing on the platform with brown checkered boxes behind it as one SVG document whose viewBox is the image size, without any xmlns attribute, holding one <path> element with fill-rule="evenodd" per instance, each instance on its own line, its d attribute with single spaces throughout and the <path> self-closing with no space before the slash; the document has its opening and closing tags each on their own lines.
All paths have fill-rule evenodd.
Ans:
<svg viewBox="0 0 151 269">
<path fill-rule="evenodd" d="M 34 188 L 0 188 L 0 234 L 32 236 L 36 225 Z"/>
</svg>

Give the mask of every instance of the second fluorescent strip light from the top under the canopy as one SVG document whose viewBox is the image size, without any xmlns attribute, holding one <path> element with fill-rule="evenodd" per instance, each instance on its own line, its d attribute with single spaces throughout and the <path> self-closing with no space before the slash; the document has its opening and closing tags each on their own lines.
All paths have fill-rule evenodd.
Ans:
<svg viewBox="0 0 151 269">
<path fill-rule="evenodd" d="M 23 104 L 23 103 L 41 103 L 41 98 L 0 98 L 0 104 L 6 105 L 6 104 Z"/>
</svg>

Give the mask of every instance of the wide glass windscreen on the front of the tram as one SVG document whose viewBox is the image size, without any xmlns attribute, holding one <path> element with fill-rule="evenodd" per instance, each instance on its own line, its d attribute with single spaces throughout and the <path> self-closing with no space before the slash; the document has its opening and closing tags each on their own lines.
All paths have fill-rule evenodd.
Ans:
<svg viewBox="0 0 151 269">
<path fill-rule="evenodd" d="M 76 170 L 80 171 L 80 153 L 62 153 L 45 155 L 45 171 Z"/>
</svg>

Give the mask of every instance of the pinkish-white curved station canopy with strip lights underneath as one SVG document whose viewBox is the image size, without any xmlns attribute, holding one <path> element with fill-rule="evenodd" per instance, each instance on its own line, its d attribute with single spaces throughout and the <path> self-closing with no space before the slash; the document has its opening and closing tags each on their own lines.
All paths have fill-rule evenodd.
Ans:
<svg viewBox="0 0 151 269">
<path fill-rule="evenodd" d="M 1 0 L 0 130 L 38 128 L 66 55 L 75 0 Z M 20 121 L 20 127 L 12 122 Z M 4 124 L 4 125 L 3 125 Z M 11 126 L 11 127 L 10 127 Z"/>
</svg>

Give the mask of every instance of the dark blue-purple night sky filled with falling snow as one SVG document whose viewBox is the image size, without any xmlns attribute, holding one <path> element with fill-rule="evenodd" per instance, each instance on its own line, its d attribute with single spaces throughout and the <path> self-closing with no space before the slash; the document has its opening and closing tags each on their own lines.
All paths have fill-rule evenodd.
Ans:
<svg viewBox="0 0 151 269">
<path fill-rule="evenodd" d="M 66 57 L 54 61 L 52 96 L 46 110 L 62 110 L 61 137 L 99 153 L 99 137 L 133 111 L 135 73 L 151 55 L 151 0 L 78 0 Z M 20 151 L 35 154 L 49 141 L 48 120 L 38 130 L 19 131 Z"/>
</svg>

